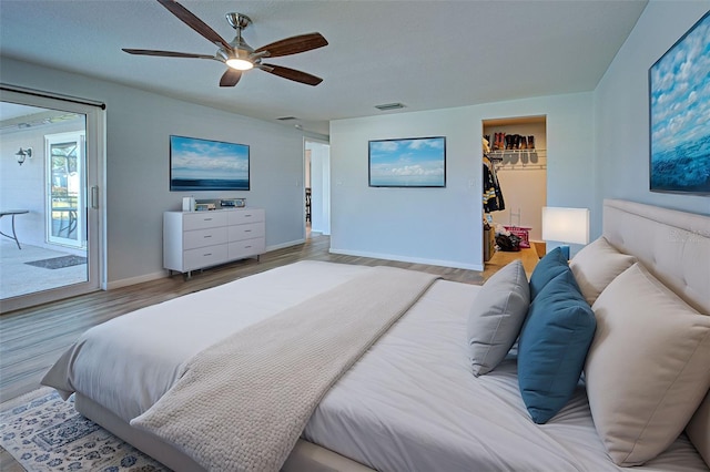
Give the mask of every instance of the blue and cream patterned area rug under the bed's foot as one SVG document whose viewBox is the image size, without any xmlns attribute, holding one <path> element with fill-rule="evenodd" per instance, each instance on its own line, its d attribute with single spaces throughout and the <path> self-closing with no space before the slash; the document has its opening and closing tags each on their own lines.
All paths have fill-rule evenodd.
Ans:
<svg viewBox="0 0 710 472">
<path fill-rule="evenodd" d="M 2 404 L 0 445 L 28 471 L 170 472 L 41 388 Z"/>
</svg>

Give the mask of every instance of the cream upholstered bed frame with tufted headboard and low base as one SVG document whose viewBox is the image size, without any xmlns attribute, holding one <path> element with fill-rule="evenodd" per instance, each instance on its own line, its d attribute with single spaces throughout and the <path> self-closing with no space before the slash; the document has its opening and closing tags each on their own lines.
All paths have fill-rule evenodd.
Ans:
<svg viewBox="0 0 710 472">
<path fill-rule="evenodd" d="M 605 201 L 604 236 L 622 253 L 636 256 L 689 305 L 710 312 L 710 265 L 698 264 L 710 260 L 710 217 L 632 202 Z M 81 414 L 171 469 L 204 470 L 171 444 L 130 427 L 87 397 L 77 393 L 75 407 Z M 710 412 L 710 396 L 700 410 Z M 709 422 L 703 422 L 701 428 Z M 304 440 L 298 441 L 282 470 L 372 471 Z"/>
</svg>

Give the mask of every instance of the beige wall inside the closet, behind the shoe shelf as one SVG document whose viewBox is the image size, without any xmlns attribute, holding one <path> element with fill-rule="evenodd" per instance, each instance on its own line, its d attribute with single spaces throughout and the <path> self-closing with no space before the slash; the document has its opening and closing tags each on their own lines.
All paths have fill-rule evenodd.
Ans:
<svg viewBox="0 0 710 472">
<path fill-rule="evenodd" d="M 547 124 L 545 116 L 490 120 L 483 123 L 484 136 L 493 142 L 495 133 L 535 136 L 540 158 L 536 165 L 495 163 L 506 209 L 493 212 L 495 223 L 530 227 L 530 240 L 542 240 L 542 207 L 547 203 Z M 519 214 L 519 217 L 518 217 Z"/>
</svg>

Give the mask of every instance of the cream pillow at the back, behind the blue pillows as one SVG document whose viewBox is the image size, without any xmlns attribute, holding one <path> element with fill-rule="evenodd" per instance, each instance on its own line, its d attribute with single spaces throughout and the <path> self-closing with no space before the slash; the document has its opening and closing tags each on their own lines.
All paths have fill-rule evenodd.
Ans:
<svg viewBox="0 0 710 472">
<path fill-rule="evenodd" d="M 633 263 L 636 257 L 619 253 L 601 236 L 577 253 L 569 267 L 575 274 L 581 295 L 589 305 L 594 305 L 601 290 Z"/>
</svg>

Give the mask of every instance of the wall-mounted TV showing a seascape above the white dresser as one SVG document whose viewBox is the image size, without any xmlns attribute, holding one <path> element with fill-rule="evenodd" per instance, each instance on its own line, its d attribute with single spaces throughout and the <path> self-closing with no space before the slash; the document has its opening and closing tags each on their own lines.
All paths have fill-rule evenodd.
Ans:
<svg viewBox="0 0 710 472">
<path fill-rule="evenodd" d="M 170 136 L 170 191 L 248 191 L 248 146 Z"/>
</svg>

